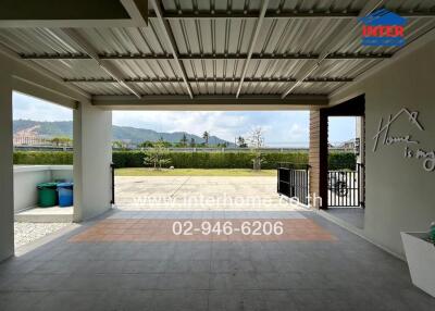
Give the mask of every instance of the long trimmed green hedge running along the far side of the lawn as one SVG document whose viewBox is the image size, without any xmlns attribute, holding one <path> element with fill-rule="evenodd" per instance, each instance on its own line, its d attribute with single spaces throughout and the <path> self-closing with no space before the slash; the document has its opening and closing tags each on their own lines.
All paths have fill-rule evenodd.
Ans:
<svg viewBox="0 0 435 311">
<path fill-rule="evenodd" d="M 145 153 L 141 151 L 114 151 L 116 167 L 142 167 Z M 171 152 L 171 165 L 176 169 L 251 169 L 252 154 L 249 152 Z M 263 153 L 262 169 L 276 169 L 278 162 L 308 163 L 308 153 L 270 152 Z M 67 151 L 16 151 L 14 164 L 73 164 L 73 152 Z M 330 170 L 355 170 L 353 153 L 330 154 Z"/>
</svg>

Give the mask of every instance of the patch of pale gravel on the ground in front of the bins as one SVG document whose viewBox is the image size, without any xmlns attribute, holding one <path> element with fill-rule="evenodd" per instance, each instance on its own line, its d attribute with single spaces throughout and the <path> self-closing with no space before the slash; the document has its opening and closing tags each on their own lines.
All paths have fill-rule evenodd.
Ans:
<svg viewBox="0 0 435 311">
<path fill-rule="evenodd" d="M 70 225 L 70 223 L 15 223 L 15 247 L 29 244 Z"/>
</svg>

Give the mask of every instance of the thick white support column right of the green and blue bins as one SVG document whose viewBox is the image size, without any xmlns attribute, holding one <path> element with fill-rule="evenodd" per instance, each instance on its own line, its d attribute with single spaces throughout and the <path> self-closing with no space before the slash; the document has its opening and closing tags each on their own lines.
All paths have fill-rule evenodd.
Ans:
<svg viewBox="0 0 435 311">
<path fill-rule="evenodd" d="M 74 111 L 74 221 L 111 208 L 112 112 L 82 102 Z"/>
</svg>

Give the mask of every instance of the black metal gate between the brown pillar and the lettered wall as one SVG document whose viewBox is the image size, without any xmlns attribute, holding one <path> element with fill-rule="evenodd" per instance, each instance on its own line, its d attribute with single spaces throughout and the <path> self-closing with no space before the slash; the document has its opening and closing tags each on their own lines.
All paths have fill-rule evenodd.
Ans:
<svg viewBox="0 0 435 311">
<path fill-rule="evenodd" d="M 355 171 L 336 170 L 327 172 L 328 207 L 364 207 L 363 169 L 362 164 L 357 164 Z"/>
</svg>

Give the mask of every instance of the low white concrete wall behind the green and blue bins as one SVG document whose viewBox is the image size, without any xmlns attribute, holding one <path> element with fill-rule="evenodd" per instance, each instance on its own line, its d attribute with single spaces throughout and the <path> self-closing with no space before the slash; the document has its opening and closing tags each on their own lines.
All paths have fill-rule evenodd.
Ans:
<svg viewBox="0 0 435 311">
<path fill-rule="evenodd" d="M 73 165 L 14 165 L 14 212 L 37 204 L 37 184 L 60 179 L 73 181 Z"/>
</svg>

